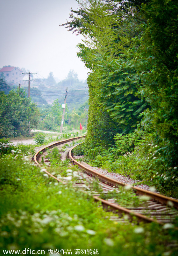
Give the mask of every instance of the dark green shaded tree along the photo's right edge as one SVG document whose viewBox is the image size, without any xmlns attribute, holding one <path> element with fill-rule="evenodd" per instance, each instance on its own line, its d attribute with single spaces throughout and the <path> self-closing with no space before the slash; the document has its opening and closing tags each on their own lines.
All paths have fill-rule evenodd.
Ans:
<svg viewBox="0 0 178 256">
<path fill-rule="evenodd" d="M 152 0 L 142 5 L 147 20 L 140 40 L 135 40 L 135 63 L 142 95 L 151 106 L 144 130 L 164 148 L 167 164 L 178 164 L 178 5 Z M 135 49 L 134 49 L 135 51 Z M 149 120 L 149 124 L 148 124 Z M 146 125 L 147 123 L 147 125 Z"/>
</svg>

